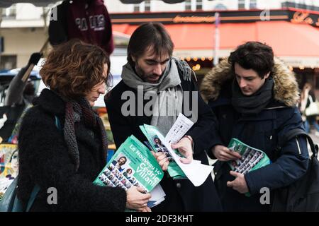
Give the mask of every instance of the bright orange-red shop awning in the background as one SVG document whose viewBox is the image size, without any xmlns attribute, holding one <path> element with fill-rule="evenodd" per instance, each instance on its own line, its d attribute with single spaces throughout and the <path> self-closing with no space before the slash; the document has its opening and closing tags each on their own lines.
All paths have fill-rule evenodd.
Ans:
<svg viewBox="0 0 319 226">
<path fill-rule="evenodd" d="M 168 24 L 177 57 L 212 57 L 215 25 Z M 113 30 L 131 35 L 138 25 L 114 24 Z M 227 57 L 247 41 L 269 44 L 277 57 L 291 66 L 319 66 L 319 29 L 288 21 L 221 23 L 219 57 Z"/>
</svg>

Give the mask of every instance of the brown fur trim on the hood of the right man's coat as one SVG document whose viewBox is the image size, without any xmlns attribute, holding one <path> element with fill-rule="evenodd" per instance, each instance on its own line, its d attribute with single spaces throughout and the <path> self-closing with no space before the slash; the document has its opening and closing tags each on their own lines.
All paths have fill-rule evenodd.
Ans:
<svg viewBox="0 0 319 226">
<path fill-rule="evenodd" d="M 299 89 L 296 77 L 292 71 L 279 59 L 274 59 L 275 65 L 272 71 L 274 78 L 274 99 L 289 107 L 294 107 L 299 100 Z M 201 83 L 201 95 L 203 99 L 216 100 L 220 95 L 220 89 L 225 82 L 233 79 L 233 72 L 228 59 L 224 59 L 203 78 Z"/>
</svg>

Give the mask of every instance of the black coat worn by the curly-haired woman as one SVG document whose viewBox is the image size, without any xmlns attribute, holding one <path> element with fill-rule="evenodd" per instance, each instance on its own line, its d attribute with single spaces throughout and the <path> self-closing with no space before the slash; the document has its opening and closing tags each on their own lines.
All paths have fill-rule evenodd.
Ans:
<svg viewBox="0 0 319 226">
<path fill-rule="evenodd" d="M 101 140 L 82 121 L 74 124 L 79 148 L 79 169 L 69 157 L 62 131 L 55 126 L 65 121 L 65 102 L 43 90 L 23 118 L 19 133 L 18 197 L 27 201 L 34 184 L 40 186 L 31 211 L 122 211 L 123 189 L 97 186 L 94 179 L 106 165 Z M 57 205 L 47 204 L 47 189 L 57 189 Z"/>
</svg>

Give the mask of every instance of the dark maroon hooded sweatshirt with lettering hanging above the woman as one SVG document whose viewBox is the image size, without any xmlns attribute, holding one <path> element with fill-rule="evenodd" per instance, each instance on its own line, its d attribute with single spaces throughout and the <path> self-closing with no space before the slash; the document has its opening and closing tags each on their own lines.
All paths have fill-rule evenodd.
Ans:
<svg viewBox="0 0 319 226">
<path fill-rule="evenodd" d="M 111 54 L 114 49 L 111 18 L 103 0 L 63 1 L 57 6 L 57 20 L 51 20 L 52 45 L 72 38 L 99 45 Z"/>
</svg>

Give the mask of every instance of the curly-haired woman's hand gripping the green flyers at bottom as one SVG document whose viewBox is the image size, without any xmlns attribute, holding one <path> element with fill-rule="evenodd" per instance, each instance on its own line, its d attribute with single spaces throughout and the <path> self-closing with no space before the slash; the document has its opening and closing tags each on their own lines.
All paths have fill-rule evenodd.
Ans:
<svg viewBox="0 0 319 226">
<path fill-rule="evenodd" d="M 151 194 L 142 194 L 144 189 L 142 187 L 131 186 L 126 191 L 126 208 L 138 210 L 141 212 L 150 212 L 147 207 L 147 202 L 151 198 Z"/>
</svg>

